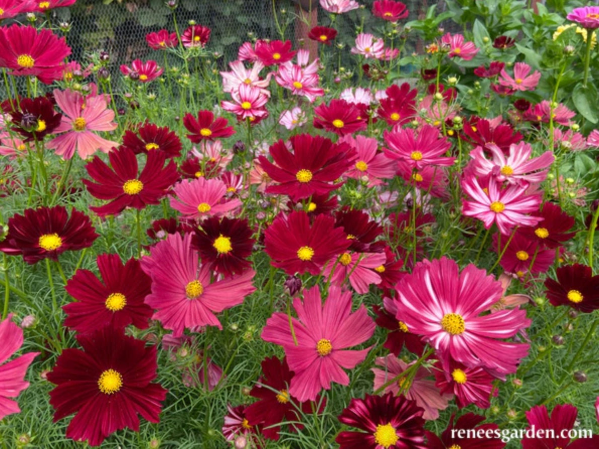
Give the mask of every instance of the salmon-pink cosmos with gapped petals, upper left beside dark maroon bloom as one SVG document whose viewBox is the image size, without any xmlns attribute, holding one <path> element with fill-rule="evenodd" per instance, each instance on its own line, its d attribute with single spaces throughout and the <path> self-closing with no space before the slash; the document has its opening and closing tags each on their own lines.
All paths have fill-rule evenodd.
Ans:
<svg viewBox="0 0 599 449">
<path fill-rule="evenodd" d="M 62 109 L 62 121 L 53 138 L 46 144 L 47 148 L 54 148 L 56 154 L 63 159 L 71 159 L 75 150 L 81 159 L 91 156 L 96 150 L 108 153 L 119 143 L 101 138 L 92 131 L 113 131 L 117 124 L 114 111 L 108 109 L 108 103 L 103 95 L 83 97 L 74 90 L 54 90 L 56 104 Z"/>
</svg>

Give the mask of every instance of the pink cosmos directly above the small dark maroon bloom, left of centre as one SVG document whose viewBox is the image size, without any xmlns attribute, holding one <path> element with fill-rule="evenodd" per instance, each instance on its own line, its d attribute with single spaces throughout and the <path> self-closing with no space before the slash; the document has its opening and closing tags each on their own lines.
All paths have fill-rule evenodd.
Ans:
<svg viewBox="0 0 599 449">
<path fill-rule="evenodd" d="M 187 219 L 220 217 L 241 205 L 237 198 L 224 201 L 226 186 L 217 179 L 183 180 L 173 188 L 177 198 L 170 198 L 170 205 Z"/>
</svg>

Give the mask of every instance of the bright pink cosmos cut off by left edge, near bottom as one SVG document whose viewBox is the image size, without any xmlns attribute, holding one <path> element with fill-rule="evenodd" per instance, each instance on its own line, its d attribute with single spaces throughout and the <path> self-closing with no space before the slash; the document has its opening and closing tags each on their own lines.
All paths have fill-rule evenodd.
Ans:
<svg viewBox="0 0 599 449">
<path fill-rule="evenodd" d="M 23 330 L 12 320 L 13 314 L 8 314 L 5 320 L 0 321 L 0 363 L 6 362 L 23 344 Z M 0 365 L 0 420 L 21 411 L 17 401 L 8 398 L 16 398 L 29 386 L 23 378 L 38 354 L 27 353 Z"/>
</svg>

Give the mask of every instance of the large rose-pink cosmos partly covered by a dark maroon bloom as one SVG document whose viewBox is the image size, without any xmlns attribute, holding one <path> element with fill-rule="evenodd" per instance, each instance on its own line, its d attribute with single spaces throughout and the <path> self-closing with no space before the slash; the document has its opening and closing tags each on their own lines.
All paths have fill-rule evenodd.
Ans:
<svg viewBox="0 0 599 449">
<path fill-rule="evenodd" d="M 241 304 L 256 290 L 251 269 L 211 282 L 210 265 L 199 265 L 191 242 L 191 234 L 169 234 L 141 259 L 141 268 L 152 278 L 152 295 L 146 297 L 146 304 L 156 310 L 152 319 L 173 330 L 174 336 L 199 326 L 222 329 L 214 313 Z"/>
</svg>

